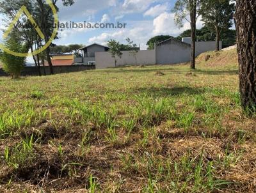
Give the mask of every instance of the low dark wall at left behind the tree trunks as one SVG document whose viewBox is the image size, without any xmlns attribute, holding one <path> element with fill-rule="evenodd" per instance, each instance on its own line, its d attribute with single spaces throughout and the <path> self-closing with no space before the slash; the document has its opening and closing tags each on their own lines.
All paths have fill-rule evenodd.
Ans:
<svg viewBox="0 0 256 193">
<path fill-rule="evenodd" d="M 84 70 L 93 70 L 95 66 L 83 66 L 83 65 L 72 65 L 72 66 L 53 66 L 54 73 L 68 73 L 68 72 L 79 72 Z M 45 66 L 46 75 L 51 74 L 49 66 Z M 44 75 L 43 66 L 41 66 L 41 73 Z M 21 73 L 22 75 L 38 75 L 37 68 L 35 66 L 26 66 Z M 0 76 L 6 76 L 7 74 L 0 68 Z"/>
</svg>

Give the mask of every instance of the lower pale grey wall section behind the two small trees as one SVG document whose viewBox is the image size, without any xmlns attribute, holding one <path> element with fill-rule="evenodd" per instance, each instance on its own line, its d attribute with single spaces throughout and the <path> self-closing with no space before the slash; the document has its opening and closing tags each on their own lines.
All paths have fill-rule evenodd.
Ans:
<svg viewBox="0 0 256 193">
<path fill-rule="evenodd" d="M 156 65 L 155 50 L 140 50 L 136 58 L 138 65 Z M 136 61 L 129 51 L 123 51 L 122 58 L 117 57 L 116 59 L 117 66 L 136 65 Z M 109 52 L 95 52 L 95 61 L 97 69 L 115 67 L 115 59 Z"/>
</svg>

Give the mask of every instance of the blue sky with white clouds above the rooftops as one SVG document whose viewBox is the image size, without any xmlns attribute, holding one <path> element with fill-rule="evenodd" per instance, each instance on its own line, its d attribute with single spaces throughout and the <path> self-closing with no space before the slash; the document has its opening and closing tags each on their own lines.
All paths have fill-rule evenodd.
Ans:
<svg viewBox="0 0 256 193">
<path fill-rule="evenodd" d="M 2 1 L 2 0 L 0 0 Z M 122 22 L 125 29 L 63 29 L 60 38 L 54 40 L 57 45 L 99 43 L 106 45 L 110 39 L 126 43 L 130 38 L 147 49 L 147 41 L 156 35 L 178 36 L 189 29 L 189 22 L 184 27 L 175 26 L 174 13 L 171 12 L 175 0 L 74 0 L 72 6 L 63 6 L 58 0 L 58 17 L 61 23 L 65 22 Z M 1 20 L 0 15 L 0 20 Z M 3 24 L 0 23 L 0 28 Z M 197 27 L 202 27 L 198 20 Z M 0 32 L 0 41 L 3 33 Z M 31 61 L 31 59 L 29 59 Z"/>
</svg>

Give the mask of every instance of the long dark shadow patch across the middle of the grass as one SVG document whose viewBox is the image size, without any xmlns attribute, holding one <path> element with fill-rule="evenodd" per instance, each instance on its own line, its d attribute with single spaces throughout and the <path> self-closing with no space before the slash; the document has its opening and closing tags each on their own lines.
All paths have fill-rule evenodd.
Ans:
<svg viewBox="0 0 256 193">
<path fill-rule="evenodd" d="M 205 93 L 204 88 L 191 88 L 189 86 L 174 87 L 174 88 L 139 88 L 132 90 L 136 93 L 145 93 L 146 95 L 153 97 L 167 97 L 167 96 L 179 96 L 179 95 L 200 95 Z"/>
</svg>

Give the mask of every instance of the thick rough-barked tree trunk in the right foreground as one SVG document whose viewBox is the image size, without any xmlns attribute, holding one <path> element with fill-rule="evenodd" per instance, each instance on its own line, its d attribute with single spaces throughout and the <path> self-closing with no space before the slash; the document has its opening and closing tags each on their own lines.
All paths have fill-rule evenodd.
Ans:
<svg viewBox="0 0 256 193">
<path fill-rule="evenodd" d="M 255 112 L 256 107 L 256 1 L 237 0 L 237 52 L 241 103 Z"/>
</svg>

